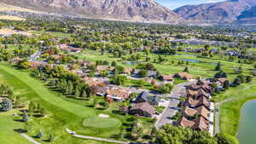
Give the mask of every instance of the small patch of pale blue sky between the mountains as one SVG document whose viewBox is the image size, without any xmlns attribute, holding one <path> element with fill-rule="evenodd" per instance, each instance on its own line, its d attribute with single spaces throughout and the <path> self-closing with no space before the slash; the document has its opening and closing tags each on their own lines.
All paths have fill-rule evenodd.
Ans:
<svg viewBox="0 0 256 144">
<path fill-rule="evenodd" d="M 222 2 L 224 0 L 154 0 L 157 3 L 164 5 L 169 9 L 176 9 L 187 4 L 201 4 L 201 3 L 214 3 Z"/>
</svg>

